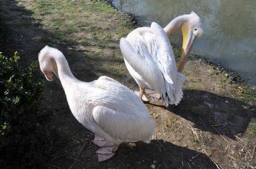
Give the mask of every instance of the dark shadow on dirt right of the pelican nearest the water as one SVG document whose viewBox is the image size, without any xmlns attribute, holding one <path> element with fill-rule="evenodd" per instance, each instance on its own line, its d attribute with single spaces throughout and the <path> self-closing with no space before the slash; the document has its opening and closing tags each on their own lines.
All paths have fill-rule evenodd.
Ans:
<svg viewBox="0 0 256 169">
<path fill-rule="evenodd" d="M 177 106 L 147 104 L 171 111 L 202 131 L 217 134 L 211 125 L 219 125 L 218 131 L 232 139 L 234 135 L 244 133 L 251 119 L 256 117 L 253 105 L 200 90 L 184 90 L 184 97 Z"/>
</svg>

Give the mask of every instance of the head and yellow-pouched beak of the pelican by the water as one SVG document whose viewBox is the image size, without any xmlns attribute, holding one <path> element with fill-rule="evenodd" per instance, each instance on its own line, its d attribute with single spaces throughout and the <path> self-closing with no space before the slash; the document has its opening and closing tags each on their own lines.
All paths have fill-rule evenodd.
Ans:
<svg viewBox="0 0 256 169">
<path fill-rule="evenodd" d="M 179 29 L 182 31 L 183 44 L 182 52 L 180 57 L 180 64 L 178 66 L 178 71 L 182 72 L 185 61 L 187 59 L 189 50 L 191 49 L 194 40 L 197 37 L 203 35 L 202 22 L 198 15 L 195 12 L 191 12 L 189 15 L 183 15 L 182 23 L 180 24 Z"/>
</svg>

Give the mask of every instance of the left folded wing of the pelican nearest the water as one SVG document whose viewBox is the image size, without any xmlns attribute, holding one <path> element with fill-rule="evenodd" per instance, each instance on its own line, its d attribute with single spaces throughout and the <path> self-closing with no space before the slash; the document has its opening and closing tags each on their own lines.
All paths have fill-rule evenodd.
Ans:
<svg viewBox="0 0 256 169">
<path fill-rule="evenodd" d="M 124 38 L 120 40 L 121 52 L 131 65 L 131 67 L 144 79 L 154 90 L 159 94 L 162 94 L 162 98 L 168 105 L 168 98 L 166 97 L 166 88 L 163 75 L 159 70 L 157 64 L 151 57 L 143 57 L 139 53 L 136 53 L 131 44 Z M 147 52 L 144 50 L 144 52 Z M 144 53 L 145 54 L 145 53 Z M 149 52 L 148 52 L 148 55 Z"/>
</svg>

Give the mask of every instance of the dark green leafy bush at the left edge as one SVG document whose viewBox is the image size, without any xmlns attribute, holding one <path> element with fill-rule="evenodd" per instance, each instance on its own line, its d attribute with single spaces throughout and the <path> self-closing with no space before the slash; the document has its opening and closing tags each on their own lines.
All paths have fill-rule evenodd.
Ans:
<svg viewBox="0 0 256 169">
<path fill-rule="evenodd" d="M 37 168 L 47 134 L 42 127 L 49 118 L 40 110 L 44 86 L 36 77 L 38 62 L 26 68 L 19 56 L 0 53 L 0 164 L 1 168 Z"/>
</svg>

